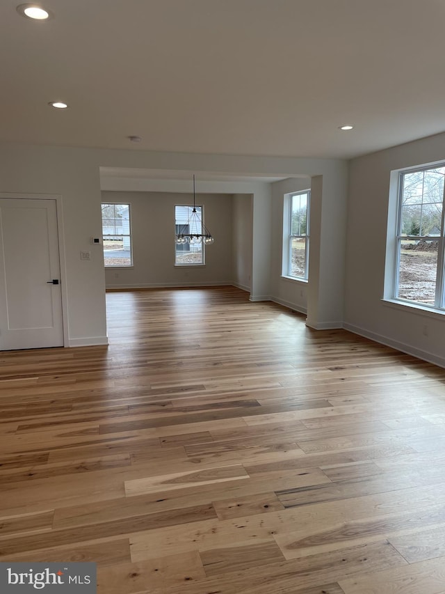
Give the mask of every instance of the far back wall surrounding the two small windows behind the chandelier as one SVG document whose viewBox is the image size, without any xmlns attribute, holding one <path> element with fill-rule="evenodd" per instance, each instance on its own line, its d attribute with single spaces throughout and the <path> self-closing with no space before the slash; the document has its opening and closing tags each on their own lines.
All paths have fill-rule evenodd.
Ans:
<svg viewBox="0 0 445 594">
<path fill-rule="evenodd" d="M 204 222 L 215 237 L 204 266 L 175 266 L 175 205 L 193 204 L 191 194 L 102 192 L 103 202 L 129 203 L 133 267 L 107 268 L 107 288 L 206 286 L 232 283 L 232 195 L 197 194 Z"/>
</svg>

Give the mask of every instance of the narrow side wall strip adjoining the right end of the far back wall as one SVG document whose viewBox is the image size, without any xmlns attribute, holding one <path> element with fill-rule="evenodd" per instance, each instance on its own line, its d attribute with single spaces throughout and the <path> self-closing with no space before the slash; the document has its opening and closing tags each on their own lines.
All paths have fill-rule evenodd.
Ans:
<svg viewBox="0 0 445 594">
<path fill-rule="evenodd" d="M 249 291 L 252 288 L 253 196 L 233 196 L 233 284 Z"/>
</svg>

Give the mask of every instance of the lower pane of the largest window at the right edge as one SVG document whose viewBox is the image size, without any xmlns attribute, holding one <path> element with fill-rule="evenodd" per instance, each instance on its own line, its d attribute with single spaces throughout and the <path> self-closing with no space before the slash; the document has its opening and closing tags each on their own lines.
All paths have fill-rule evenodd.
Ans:
<svg viewBox="0 0 445 594">
<path fill-rule="evenodd" d="M 437 241 L 401 240 L 398 295 L 425 305 L 435 305 Z"/>
</svg>

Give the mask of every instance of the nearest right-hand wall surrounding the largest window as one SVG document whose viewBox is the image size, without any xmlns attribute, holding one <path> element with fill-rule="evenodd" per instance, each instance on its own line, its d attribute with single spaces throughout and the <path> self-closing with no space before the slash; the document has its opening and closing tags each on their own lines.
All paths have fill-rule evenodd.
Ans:
<svg viewBox="0 0 445 594">
<path fill-rule="evenodd" d="M 445 366 L 445 315 L 382 302 L 391 170 L 441 159 L 445 134 L 350 162 L 344 318 L 358 334 Z"/>
</svg>

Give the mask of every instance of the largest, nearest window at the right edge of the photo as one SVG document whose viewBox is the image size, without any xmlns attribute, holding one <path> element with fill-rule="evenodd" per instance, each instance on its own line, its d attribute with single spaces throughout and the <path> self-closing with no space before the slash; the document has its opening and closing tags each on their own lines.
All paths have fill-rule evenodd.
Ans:
<svg viewBox="0 0 445 594">
<path fill-rule="evenodd" d="M 444 308 L 445 164 L 399 175 L 394 297 Z"/>
</svg>

